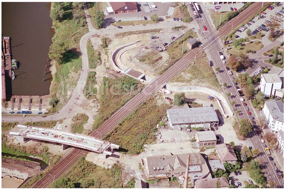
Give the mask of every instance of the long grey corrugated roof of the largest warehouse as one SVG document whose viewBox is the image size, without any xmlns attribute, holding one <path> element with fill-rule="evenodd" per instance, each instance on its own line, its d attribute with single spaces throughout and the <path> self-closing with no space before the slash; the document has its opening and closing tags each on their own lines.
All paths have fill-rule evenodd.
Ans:
<svg viewBox="0 0 286 190">
<path fill-rule="evenodd" d="M 219 121 L 214 107 L 168 109 L 167 113 L 173 124 Z"/>
</svg>

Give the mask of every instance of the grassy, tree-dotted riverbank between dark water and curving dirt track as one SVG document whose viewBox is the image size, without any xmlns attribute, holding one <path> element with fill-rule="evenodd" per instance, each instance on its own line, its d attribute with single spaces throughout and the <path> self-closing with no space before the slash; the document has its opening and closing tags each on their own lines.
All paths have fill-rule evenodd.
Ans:
<svg viewBox="0 0 286 190">
<path fill-rule="evenodd" d="M 52 45 L 49 57 L 52 59 L 50 86 L 50 111 L 58 111 L 71 97 L 80 77 L 82 59 L 79 47 L 80 38 L 88 32 L 84 10 L 73 3 L 53 2 L 51 6 L 60 6 L 67 15 L 53 21 Z M 52 11 L 52 9 L 51 9 Z"/>
</svg>

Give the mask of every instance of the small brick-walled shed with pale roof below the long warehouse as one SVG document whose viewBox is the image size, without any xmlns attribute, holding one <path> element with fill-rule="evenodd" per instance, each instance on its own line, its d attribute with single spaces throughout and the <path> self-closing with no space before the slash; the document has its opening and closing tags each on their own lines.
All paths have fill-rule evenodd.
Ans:
<svg viewBox="0 0 286 190">
<path fill-rule="evenodd" d="M 217 144 L 217 137 L 213 131 L 197 131 L 196 143 L 198 147 L 210 147 Z"/>
</svg>

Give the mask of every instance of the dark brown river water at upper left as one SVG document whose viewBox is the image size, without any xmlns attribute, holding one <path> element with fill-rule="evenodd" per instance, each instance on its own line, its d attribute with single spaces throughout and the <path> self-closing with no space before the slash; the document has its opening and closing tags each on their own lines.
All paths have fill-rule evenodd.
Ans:
<svg viewBox="0 0 286 190">
<path fill-rule="evenodd" d="M 49 94 L 52 76 L 49 63 L 45 66 L 54 34 L 50 6 L 48 2 L 2 3 L 2 39 L 11 38 L 12 58 L 19 61 L 15 80 L 6 81 L 7 97 Z"/>
</svg>

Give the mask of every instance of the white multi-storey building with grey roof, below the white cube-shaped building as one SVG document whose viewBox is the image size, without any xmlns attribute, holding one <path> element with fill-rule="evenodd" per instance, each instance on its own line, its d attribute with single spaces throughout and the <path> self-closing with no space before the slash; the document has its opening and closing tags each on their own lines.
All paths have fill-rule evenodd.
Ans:
<svg viewBox="0 0 286 190">
<path fill-rule="evenodd" d="M 284 131 L 284 104 L 281 100 L 275 99 L 265 101 L 263 113 L 265 119 L 268 121 L 268 126 L 271 132 L 277 133 L 278 131 Z"/>
</svg>

